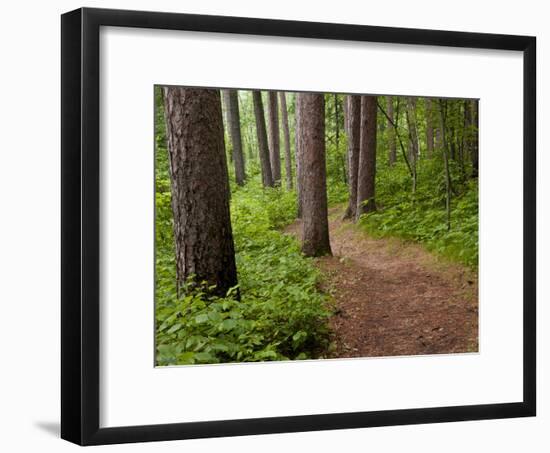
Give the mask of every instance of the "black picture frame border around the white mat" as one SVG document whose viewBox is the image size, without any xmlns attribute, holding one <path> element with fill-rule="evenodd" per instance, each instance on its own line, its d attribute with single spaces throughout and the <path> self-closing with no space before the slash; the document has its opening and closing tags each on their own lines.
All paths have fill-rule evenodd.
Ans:
<svg viewBox="0 0 550 453">
<path fill-rule="evenodd" d="M 502 404 L 100 428 L 99 31 L 102 26 L 523 52 L 523 400 Z M 98 445 L 536 414 L 535 37 L 81 8 L 62 15 L 61 56 L 63 439 L 79 445 Z"/>
</svg>

